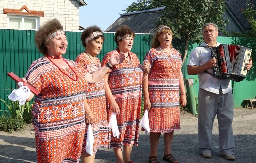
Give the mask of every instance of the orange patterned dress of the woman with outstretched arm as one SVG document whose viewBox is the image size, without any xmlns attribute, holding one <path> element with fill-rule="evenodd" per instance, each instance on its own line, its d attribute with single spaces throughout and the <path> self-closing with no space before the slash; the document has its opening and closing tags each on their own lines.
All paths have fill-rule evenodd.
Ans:
<svg viewBox="0 0 256 163">
<path fill-rule="evenodd" d="M 25 76 L 40 91 L 35 96 L 32 120 L 39 163 L 78 163 L 85 130 L 86 71 L 72 60 L 78 80 L 63 74 L 44 57 L 34 61 Z M 76 78 L 70 69 L 62 69 Z"/>
</svg>

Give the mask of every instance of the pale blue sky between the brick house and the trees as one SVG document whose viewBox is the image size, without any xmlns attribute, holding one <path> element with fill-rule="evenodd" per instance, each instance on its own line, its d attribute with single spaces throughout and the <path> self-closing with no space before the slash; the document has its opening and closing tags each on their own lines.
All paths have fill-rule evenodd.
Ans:
<svg viewBox="0 0 256 163">
<path fill-rule="evenodd" d="M 79 7 L 80 26 L 87 28 L 98 25 L 103 31 L 124 13 L 132 2 L 137 0 L 84 0 L 86 6 Z"/>
</svg>

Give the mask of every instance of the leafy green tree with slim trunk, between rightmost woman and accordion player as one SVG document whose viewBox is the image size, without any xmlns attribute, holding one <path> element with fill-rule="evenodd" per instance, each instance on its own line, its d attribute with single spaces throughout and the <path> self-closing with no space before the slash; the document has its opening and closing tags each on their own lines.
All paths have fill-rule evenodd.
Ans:
<svg viewBox="0 0 256 163">
<path fill-rule="evenodd" d="M 164 5 L 158 25 L 168 25 L 174 36 L 184 39 L 182 63 L 187 57 L 189 41 L 202 42 L 201 27 L 204 23 L 215 23 L 219 29 L 223 29 L 226 23 L 222 18 L 225 11 L 223 0 L 166 0 Z"/>
</svg>

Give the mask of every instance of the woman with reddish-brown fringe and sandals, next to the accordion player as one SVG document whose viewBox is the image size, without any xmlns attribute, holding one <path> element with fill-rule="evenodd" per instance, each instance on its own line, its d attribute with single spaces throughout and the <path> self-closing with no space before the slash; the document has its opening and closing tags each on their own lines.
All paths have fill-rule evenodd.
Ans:
<svg viewBox="0 0 256 163">
<path fill-rule="evenodd" d="M 164 133 L 163 160 L 179 162 L 172 155 L 172 138 L 174 130 L 180 129 L 180 104 L 185 106 L 187 100 L 181 56 L 172 47 L 172 37 L 172 30 L 168 26 L 159 26 L 151 40 L 152 48 L 145 56 L 150 62 L 150 71 L 143 81 L 143 92 L 150 126 L 149 162 L 152 163 L 160 162 L 157 146 L 161 132 Z"/>
</svg>

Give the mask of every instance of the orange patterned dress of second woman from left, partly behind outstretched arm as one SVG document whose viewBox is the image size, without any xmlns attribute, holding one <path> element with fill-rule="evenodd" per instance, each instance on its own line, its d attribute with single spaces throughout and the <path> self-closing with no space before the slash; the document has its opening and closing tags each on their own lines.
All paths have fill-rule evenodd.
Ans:
<svg viewBox="0 0 256 163">
<path fill-rule="evenodd" d="M 84 53 L 77 56 L 75 62 L 84 67 L 84 69 L 92 73 L 100 69 L 100 60 L 96 57 L 98 64 L 94 64 Z M 97 147 L 108 148 L 108 119 L 106 110 L 105 97 L 105 77 L 102 77 L 96 83 L 89 83 L 86 92 L 87 103 L 94 114 L 94 123 L 92 124 L 92 131 L 95 143 L 93 144 L 93 153 L 97 152 Z M 85 144 L 87 138 L 87 129 L 85 129 L 82 154 L 85 152 Z"/>
</svg>

